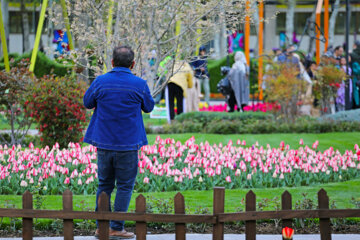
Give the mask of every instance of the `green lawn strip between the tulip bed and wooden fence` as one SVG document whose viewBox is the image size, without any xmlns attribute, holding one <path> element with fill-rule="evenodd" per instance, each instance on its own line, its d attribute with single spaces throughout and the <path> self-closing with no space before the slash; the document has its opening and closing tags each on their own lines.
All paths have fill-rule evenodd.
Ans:
<svg viewBox="0 0 360 240">
<path fill-rule="evenodd" d="M 310 187 L 297 187 L 297 188 L 272 188 L 272 189 L 252 189 L 257 195 L 257 201 L 261 199 L 273 199 L 274 197 L 279 197 L 281 199 L 281 194 L 288 190 L 293 196 L 293 205 L 299 199 L 302 199 L 303 193 L 308 194 L 308 198 L 315 201 L 317 205 L 317 191 L 321 188 L 324 188 L 328 192 L 330 201 L 335 201 L 337 208 L 354 208 L 355 206 L 351 204 L 351 198 L 354 197 L 357 201 L 360 201 L 360 179 L 354 179 L 341 183 L 330 183 L 323 184 L 319 186 L 310 186 Z M 233 189 L 226 190 L 225 193 L 225 212 L 235 211 L 239 206 L 245 194 L 249 189 Z M 153 196 L 156 198 L 169 199 L 174 197 L 176 192 L 155 192 L 155 193 L 144 193 L 145 196 Z M 201 206 L 207 207 L 212 211 L 212 202 L 213 202 L 213 192 L 212 191 L 184 191 L 182 194 L 185 197 L 185 205 L 190 207 L 191 210 Z M 138 193 L 134 193 L 130 202 L 130 210 L 135 208 L 135 198 L 138 196 Z M 45 209 L 61 209 L 62 199 L 61 196 L 48 195 L 44 197 L 43 206 Z M 15 195 L 2 195 L 0 196 L 0 206 L 3 207 L 5 201 L 8 203 L 15 204 L 17 208 L 21 208 L 21 196 Z M 114 194 L 112 196 L 114 200 Z M 74 196 L 74 209 L 79 210 L 78 205 L 81 201 L 85 202 L 85 205 L 90 209 L 94 209 L 95 206 L 95 196 L 94 195 L 76 195 Z"/>
</svg>

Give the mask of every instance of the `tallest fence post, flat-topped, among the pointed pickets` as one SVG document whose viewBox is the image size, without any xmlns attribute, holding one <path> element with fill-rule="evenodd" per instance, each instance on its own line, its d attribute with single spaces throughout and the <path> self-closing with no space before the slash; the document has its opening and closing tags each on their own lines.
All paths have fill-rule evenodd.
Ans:
<svg viewBox="0 0 360 240">
<path fill-rule="evenodd" d="M 225 209 L 225 188 L 214 187 L 213 214 L 224 213 Z M 213 225 L 213 240 L 224 239 L 224 223 L 217 222 Z"/>
</svg>

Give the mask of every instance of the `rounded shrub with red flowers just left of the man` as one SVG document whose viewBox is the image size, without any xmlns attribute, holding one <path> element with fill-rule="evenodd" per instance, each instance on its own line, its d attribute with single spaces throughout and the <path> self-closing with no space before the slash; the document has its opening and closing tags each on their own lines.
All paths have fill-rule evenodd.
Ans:
<svg viewBox="0 0 360 240">
<path fill-rule="evenodd" d="M 69 77 L 48 75 L 34 81 L 25 112 L 38 123 L 42 145 L 58 142 L 65 147 L 81 141 L 86 124 L 84 92 L 84 84 Z"/>
</svg>

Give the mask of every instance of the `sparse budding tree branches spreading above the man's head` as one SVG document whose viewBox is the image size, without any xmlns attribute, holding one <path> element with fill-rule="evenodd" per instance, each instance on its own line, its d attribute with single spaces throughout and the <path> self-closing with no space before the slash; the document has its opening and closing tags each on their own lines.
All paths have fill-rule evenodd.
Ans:
<svg viewBox="0 0 360 240">
<path fill-rule="evenodd" d="M 101 74 L 111 69 L 113 47 L 119 44 L 129 45 L 136 52 L 134 73 L 148 81 L 155 95 L 166 85 L 166 81 L 160 82 L 159 79 L 169 79 L 178 70 L 174 69 L 175 59 L 191 59 L 196 46 L 208 42 L 219 31 L 217 19 L 226 17 L 228 29 L 237 29 L 245 15 L 250 14 L 245 10 L 245 2 L 115 1 L 111 28 L 108 31 L 110 1 L 68 0 L 68 15 L 72 19 L 71 29 L 77 48 L 70 57 L 77 65 Z M 62 22 L 61 13 L 54 16 L 53 20 Z M 176 31 L 177 24 L 181 26 L 179 32 Z M 172 60 L 164 68 L 159 68 L 160 62 L 167 56 L 171 56 Z"/>
</svg>

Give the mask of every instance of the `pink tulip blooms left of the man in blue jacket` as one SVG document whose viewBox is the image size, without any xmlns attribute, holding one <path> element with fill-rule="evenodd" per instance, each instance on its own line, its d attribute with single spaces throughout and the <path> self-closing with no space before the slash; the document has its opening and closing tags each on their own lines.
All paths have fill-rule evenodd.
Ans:
<svg viewBox="0 0 360 240">
<path fill-rule="evenodd" d="M 26 149 L 0 145 L 0 184 L 20 182 L 22 187 L 40 184 L 51 188 L 57 186 L 48 186 L 48 180 L 55 178 L 58 185 L 88 185 L 97 178 L 95 161 L 96 148 L 79 143 L 62 150 L 58 144 L 52 149 L 35 148 L 32 143 Z"/>
</svg>

